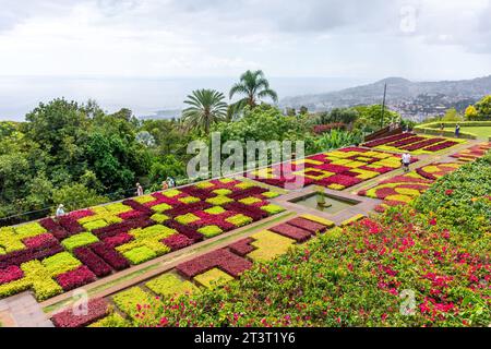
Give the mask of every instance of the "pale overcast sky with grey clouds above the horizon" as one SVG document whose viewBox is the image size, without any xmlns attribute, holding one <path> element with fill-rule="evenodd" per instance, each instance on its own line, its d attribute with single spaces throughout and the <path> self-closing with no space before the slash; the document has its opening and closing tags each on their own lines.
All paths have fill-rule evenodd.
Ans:
<svg viewBox="0 0 491 349">
<path fill-rule="evenodd" d="M 491 74 L 489 0 L 0 0 L 0 75 Z"/>
</svg>

